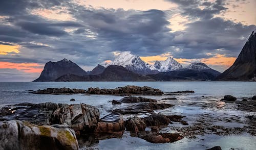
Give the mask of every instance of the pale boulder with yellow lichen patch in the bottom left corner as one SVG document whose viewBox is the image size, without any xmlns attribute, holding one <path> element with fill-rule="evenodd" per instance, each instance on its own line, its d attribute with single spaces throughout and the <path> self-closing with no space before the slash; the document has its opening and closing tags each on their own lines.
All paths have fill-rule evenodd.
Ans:
<svg viewBox="0 0 256 150">
<path fill-rule="evenodd" d="M 78 149 L 67 125 L 37 126 L 19 120 L 0 122 L 0 149 Z"/>
</svg>

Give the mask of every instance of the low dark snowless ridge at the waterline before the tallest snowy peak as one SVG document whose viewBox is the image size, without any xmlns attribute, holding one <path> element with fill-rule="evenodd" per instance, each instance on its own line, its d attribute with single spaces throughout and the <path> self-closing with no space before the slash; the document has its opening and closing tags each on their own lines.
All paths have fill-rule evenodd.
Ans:
<svg viewBox="0 0 256 150">
<path fill-rule="evenodd" d="M 65 74 L 55 81 L 154 81 L 150 77 L 141 76 L 123 66 L 110 65 L 101 74 L 77 76 Z"/>
</svg>

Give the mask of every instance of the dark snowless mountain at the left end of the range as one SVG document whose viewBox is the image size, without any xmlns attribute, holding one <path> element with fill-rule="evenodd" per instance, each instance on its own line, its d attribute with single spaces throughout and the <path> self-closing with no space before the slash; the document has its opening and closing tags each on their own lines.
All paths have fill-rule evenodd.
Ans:
<svg viewBox="0 0 256 150">
<path fill-rule="evenodd" d="M 76 63 L 73 63 L 67 59 L 63 59 L 57 62 L 47 62 L 39 78 L 33 82 L 53 81 L 67 73 L 72 73 L 77 76 L 84 76 L 87 74 L 86 71 L 80 68 Z"/>
</svg>

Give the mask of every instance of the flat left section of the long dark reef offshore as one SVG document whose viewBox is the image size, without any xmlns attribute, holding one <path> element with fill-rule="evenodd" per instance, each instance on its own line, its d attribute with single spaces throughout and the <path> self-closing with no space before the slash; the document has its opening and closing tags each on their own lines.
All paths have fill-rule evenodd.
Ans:
<svg viewBox="0 0 256 150">
<path fill-rule="evenodd" d="M 86 93 L 85 90 L 82 89 L 71 89 L 71 88 L 47 88 L 44 90 L 37 90 L 31 92 L 33 94 L 77 94 L 77 93 Z"/>
</svg>

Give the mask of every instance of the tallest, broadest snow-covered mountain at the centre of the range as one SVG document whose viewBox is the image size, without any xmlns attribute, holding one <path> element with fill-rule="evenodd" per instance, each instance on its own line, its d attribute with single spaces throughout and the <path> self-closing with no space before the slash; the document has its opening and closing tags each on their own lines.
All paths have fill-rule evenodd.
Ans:
<svg viewBox="0 0 256 150">
<path fill-rule="evenodd" d="M 139 56 L 132 55 L 129 51 L 122 52 L 117 55 L 114 61 L 106 64 L 106 66 L 109 65 L 123 66 L 128 70 L 143 75 L 151 74 L 154 72 L 150 69 L 150 65 L 148 63 L 145 63 L 143 60 L 141 60 Z"/>
</svg>

